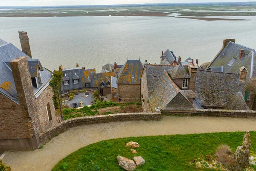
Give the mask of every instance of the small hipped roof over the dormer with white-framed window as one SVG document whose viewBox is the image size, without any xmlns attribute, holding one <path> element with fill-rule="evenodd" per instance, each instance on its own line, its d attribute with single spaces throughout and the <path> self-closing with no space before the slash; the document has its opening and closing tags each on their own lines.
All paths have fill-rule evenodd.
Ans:
<svg viewBox="0 0 256 171">
<path fill-rule="evenodd" d="M 189 71 L 186 70 L 181 63 L 169 71 L 169 74 L 172 79 L 190 78 Z"/>
</svg>

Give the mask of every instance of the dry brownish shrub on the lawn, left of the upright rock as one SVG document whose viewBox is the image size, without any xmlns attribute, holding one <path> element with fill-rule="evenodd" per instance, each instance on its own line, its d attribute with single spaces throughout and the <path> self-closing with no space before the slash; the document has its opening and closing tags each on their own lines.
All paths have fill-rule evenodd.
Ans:
<svg viewBox="0 0 256 171">
<path fill-rule="evenodd" d="M 233 154 L 228 145 L 218 146 L 215 156 L 217 161 L 220 162 L 229 171 L 242 171 L 241 166 L 233 159 Z"/>
</svg>

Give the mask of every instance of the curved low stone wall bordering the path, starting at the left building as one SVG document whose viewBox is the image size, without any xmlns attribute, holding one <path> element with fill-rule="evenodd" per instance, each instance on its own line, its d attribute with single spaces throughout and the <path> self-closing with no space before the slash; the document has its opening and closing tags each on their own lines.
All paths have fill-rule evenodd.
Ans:
<svg viewBox="0 0 256 171">
<path fill-rule="evenodd" d="M 111 115 L 99 115 L 99 116 L 85 116 L 73 119 L 67 119 L 59 123 L 55 128 L 48 129 L 47 131 L 39 135 L 40 144 L 57 136 L 58 134 L 79 126 L 90 125 L 107 122 L 119 122 L 119 121 L 133 121 L 133 120 L 159 120 L 162 119 L 161 113 L 118 113 Z"/>
</svg>

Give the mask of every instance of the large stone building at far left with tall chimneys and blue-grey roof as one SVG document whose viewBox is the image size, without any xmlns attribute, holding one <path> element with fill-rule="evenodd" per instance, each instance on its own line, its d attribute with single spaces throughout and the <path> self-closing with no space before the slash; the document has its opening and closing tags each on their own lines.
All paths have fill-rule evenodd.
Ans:
<svg viewBox="0 0 256 171">
<path fill-rule="evenodd" d="M 49 87 L 52 72 L 31 58 L 27 33 L 19 34 L 23 52 L 0 39 L 0 152 L 35 150 L 38 135 L 61 122 Z"/>
</svg>

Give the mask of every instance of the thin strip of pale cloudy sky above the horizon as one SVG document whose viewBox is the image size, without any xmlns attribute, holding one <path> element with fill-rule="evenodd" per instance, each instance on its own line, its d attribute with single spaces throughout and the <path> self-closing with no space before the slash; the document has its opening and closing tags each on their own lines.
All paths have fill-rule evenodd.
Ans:
<svg viewBox="0 0 256 171">
<path fill-rule="evenodd" d="M 0 6 L 109 5 L 137 3 L 246 2 L 249 0 L 0 0 Z"/>
</svg>

